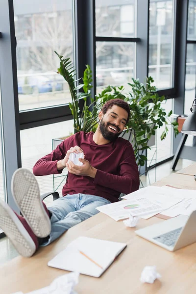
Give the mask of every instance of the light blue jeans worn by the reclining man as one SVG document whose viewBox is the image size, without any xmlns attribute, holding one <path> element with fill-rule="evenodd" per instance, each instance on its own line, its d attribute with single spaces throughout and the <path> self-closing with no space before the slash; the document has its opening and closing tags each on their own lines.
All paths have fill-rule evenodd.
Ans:
<svg viewBox="0 0 196 294">
<path fill-rule="evenodd" d="M 96 215 L 96 207 L 111 203 L 109 200 L 86 194 L 73 194 L 61 197 L 48 207 L 51 212 L 51 233 L 49 240 L 41 246 L 49 245 L 69 228 Z"/>
</svg>

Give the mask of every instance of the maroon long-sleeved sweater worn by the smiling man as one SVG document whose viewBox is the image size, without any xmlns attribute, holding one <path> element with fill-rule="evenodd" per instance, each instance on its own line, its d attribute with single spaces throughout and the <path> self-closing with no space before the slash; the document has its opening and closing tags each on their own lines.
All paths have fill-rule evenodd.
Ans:
<svg viewBox="0 0 196 294">
<path fill-rule="evenodd" d="M 93 132 L 78 132 L 59 144 L 55 150 L 39 159 L 33 167 L 34 175 L 58 174 L 57 161 L 74 146 L 84 150 L 85 159 L 98 171 L 95 178 L 69 173 L 62 194 L 89 194 L 111 202 L 118 201 L 121 193 L 128 194 L 139 188 L 139 172 L 131 144 L 117 138 L 114 142 L 97 145 Z"/>
</svg>

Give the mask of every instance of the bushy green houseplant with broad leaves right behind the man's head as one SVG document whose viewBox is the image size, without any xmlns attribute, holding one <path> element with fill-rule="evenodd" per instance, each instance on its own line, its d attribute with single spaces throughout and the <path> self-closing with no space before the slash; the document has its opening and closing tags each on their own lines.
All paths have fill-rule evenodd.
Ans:
<svg viewBox="0 0 196 294">
<path fill-rule="evenodd" d="M 121 98 L 128 102 L 130 119 L 127 123 L 127 131 L 132 133 L 132 145 L 136 161 L 140 166 L 143 166 L 147 160 L 144 151 L 150 149 L 148 141 L 152 135 L 155 135 L 158 127 L 164 127 L 161 140 L 166 138 L 169 124 L 173 127 L 175 137 L 179 133 L 178 123 L 171 122 L 169 119 L 172 110 L 168 114 L 165 112 L 161 105 L 165 97 L 159 97 L 156 87 L 151 85 L 153 82 L 152 77 L 147 77 L 146 85 L 132 78 L 132 83 L 128 83 L 131 89 L 127 94 L 123 93 L 125 91 L 123 86 L 108 86 L 96 97 L 100 105 L 114 98 Z"/>
</svg>

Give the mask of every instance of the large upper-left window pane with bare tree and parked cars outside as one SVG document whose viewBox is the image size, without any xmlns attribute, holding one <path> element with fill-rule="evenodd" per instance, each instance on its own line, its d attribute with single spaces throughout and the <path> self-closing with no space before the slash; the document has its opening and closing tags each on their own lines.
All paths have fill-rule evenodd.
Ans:
<svg viewBox="0 0 196 294">
<path fill-rule="evenodd" d="M 72 0 L 14 0 L 14 13 L 19 109 L 68 103 L 54 50 L 73 60 Z"/>
</svg>

